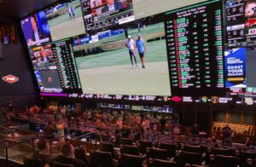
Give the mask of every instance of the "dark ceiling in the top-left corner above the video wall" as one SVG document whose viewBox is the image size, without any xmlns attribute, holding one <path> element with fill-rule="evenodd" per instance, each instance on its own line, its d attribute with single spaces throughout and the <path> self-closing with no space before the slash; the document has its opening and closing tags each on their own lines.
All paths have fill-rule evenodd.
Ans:
<svg viewBox="0 0 256 167">
<path fill-rule="evenodd" d="M 0 18 L 20 20 L 58 0 L 0 0 Z"/>
</svg>

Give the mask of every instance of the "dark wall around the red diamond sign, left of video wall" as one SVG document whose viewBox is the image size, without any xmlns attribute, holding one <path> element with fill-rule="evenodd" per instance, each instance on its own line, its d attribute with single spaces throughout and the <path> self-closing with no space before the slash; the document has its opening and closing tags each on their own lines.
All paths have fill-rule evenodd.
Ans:
<svg viewBox="0 0 256 167">
<path fill-rule="evenodd" d="M 15 24 L 17 44 L 3 45 L 3 59 L 0 60 L 0 105 L 12 100 L 14 106 L 18 107 L 20 104 L 30 105 L 32 101 L 38 101 L 38 89 L 20 25 L 18 22 Z M 19 78 L 19 81 L 16 83 L 4 82 L 2 78 L 9 74 Z"/>
</svg>

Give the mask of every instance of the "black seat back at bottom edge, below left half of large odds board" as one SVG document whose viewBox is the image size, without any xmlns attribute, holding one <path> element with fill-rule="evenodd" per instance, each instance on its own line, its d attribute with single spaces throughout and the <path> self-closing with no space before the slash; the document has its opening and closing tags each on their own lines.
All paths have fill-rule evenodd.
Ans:
<svg viewBox="0 0 256 167">
<path fill-rule="evenodd" d="M 180 154 L 180 163 L 181 166 L 184 164 L 201 164 L 201 154 L 200 153 L 190 153 L 190 152 L 182 152 Z"/>
</svg>

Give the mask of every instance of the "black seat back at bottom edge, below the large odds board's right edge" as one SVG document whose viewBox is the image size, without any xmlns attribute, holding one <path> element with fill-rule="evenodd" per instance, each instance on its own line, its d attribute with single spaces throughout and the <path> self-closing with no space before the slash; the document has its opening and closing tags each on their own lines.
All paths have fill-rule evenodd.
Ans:
<svg viewBox="0 0 256 167">
<path fill-rule="evenodd" d="M 237 160 L 236 160 L 236 157 L 225 156 L 225 155 L 216 155 L 215 164 L 218 164 L 218 166 L 230 166 L 230 167 L 234 166 L 234 167 L 236 167 Z"/>
</svg>

